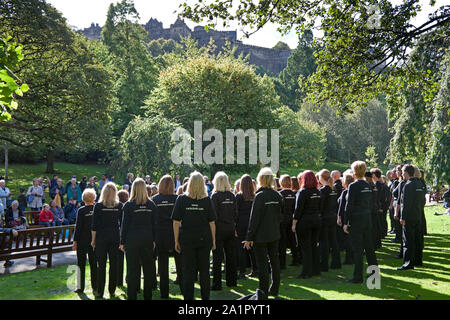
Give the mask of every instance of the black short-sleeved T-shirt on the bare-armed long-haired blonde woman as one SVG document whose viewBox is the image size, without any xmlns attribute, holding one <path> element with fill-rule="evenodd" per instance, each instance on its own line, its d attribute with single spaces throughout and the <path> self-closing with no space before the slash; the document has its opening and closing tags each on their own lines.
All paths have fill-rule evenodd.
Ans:
<svg viewBox="0 0 450 320">
<path fill-rule="evenodd" d="M 192 199 L 179 195 L 173 208 L 172 220 L 180 221 L 178 241 L 181 247 L 212 247 L 212 234 L 209 223 L 217 218 L 209 197 Z"/>
</svg>

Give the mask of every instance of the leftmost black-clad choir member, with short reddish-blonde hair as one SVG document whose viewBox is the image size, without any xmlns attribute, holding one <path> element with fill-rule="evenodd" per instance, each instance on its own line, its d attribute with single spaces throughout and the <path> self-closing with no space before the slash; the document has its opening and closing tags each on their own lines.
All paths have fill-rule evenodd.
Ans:
<svg viewBox="0 0 450 320">
<path fill-rule="evenodd" d="M 94 250 L 91 246 L 91 227 L 92 214 L 94 212 L 94 201 L 96 197 L 97 195 L 92 189 L 86 189 L 83 192 L 82 199 L 84 206 L 78 209 L 75 232 L 73 235 L 73 250 L 77 252 L 77 265 L 79 272 L 78 279 L 80 279 L 79 286 L 75 292 L 84 292 L 87 255 L 91 270 L 91 287 L 94 295 L 97 291 L 97 260 L 95 259 Z"/>
</svg>

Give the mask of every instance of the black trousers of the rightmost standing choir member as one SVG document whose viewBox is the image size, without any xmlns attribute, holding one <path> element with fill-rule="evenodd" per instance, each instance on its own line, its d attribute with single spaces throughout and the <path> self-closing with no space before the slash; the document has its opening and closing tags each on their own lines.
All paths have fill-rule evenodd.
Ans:
<svg viewBox="0 0 450 320">
<path fill-rule="evenodd" d="M 403 266 L 414 267 L 422 233 L 420 221 L 408 221 L 403 226 Z"/>
</svg>

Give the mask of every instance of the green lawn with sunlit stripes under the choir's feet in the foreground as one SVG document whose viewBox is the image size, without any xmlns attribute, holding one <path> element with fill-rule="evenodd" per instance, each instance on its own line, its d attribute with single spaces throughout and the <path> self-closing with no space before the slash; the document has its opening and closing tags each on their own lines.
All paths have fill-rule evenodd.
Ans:
<svg viewBox="0 0 450 320">
<path fill-rule="evenodd" d="M 450 217 L 434 216 L 443 212 L 442 206 L 426 208 L 428 236 L 425 237 L 424 266 L 415 270 L 397 271 L 401 260 L 395 259 L 399 245 L 392 244 L 389 235 L 383 241 L 383 248 L 377 252 L 381 269 L 381 289 L 369 290 L 365 284 L 348 284 L 353 266 L 343 266 L 342 270 L 331 270 L 320 277 L 298 280 L 301 267 L 288 267 L 282 272 L 280 297 L 284 299 L 450 299 Z M 290 257 L 288 257 L 288 263 Z M 16 261 L 16 263 L 20 263 Z M 171 268 L 174 267 L 171 261 Z M 93 299 L 89 281 L 85 296 L 72 293 L 67 287 L 71 273 L 68 266 L 39 269 L 13 275 L 0 276 L 0 299 Z M 89 274 L 87 271 L 86 274 Z M 175 279 L 175 275 L 170 275 Z M 69 280 L 70 282 L 70 280 Z M 72 281 L 73 282 L 73 281 Z M 107 283 L 107 282 L 106 282 Z M 229 289 L 223 283 L 223 291 L 212 291 L 211 299 L 236 299 L 252 293 L 258 287 L 257 279 L 240 281 L 238 287 Z M 105 292 L 107 288 L 105 288 Z M 181 299 L 178 286 L 170 285 L 171 299 Z M 118 299 L 126 298 L 126 288 L 117 289 Z M 196 284 L 196 297 L 200 296 Z M 108 294 L 105 293 L 105 297 Z M 140 298 L 142 298 L 140 296 Z M 154 298 L 159 292 L 154 291 Z"/>
</svg>

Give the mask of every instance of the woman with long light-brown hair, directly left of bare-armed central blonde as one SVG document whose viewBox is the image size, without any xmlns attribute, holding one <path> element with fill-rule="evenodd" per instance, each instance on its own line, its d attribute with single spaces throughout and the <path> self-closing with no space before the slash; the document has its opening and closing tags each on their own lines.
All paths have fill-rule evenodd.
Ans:
<svg viewBox="0 0 450 320">
<path fill-rule="evenodd" d="M 183 273 L 181 272 L 181 255 L 175 251 L 175 237 L 171 219 L 173 207 L 177 200 L 174 194 L 175 183 L 170 175 L 159 180 L 158 194 L 152 197 L 156 211 L 156 249 L 158 252 L 159 290 L 161 299 L 169 298 L 169 256 L 174 257 L 180 291 L 183 292 Z"/>
</svg>

